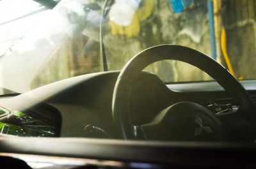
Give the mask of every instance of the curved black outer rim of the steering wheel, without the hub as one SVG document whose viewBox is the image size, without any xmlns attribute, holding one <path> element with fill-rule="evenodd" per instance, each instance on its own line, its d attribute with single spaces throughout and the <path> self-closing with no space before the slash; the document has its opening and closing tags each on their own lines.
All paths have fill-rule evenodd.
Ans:
<svg viewBox="0 0 256 169">
<path fill-rule="evenodd" d="M 153 62 L 163 60 L 176 60 L 196 66 L 218 82 L 240 103 L 239 110 L 243 112 L 248 122 L 253 125 L 256 122 L 255 105 L 248 92 L 237 79 L 221 64 L 214 61 L 208 55 L 192 48 L 180 45 L 157 45 L 147 48 L 125 64 L 118 76 L 113 92 L 112 112 L 113 122 L 119 138 L 136 139 L 136 126 L 131 122 L 129 112 L 129 98 L 132 82 L 139 73 Z M 232 85 L 230 85 L 232 84 Z"/>
</svg>

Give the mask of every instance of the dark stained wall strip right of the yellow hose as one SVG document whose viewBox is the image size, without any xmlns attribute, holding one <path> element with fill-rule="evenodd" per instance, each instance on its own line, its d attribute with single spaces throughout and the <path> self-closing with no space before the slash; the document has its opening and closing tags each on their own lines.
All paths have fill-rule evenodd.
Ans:
<svg viewBox="0 0 256 169">
<path fill-rule="evenodd" d="M 227 32 L 227 53 L 236 77 L 256 78 L 256 1 L 223 1 L 223 27 Z"/>
</svg>

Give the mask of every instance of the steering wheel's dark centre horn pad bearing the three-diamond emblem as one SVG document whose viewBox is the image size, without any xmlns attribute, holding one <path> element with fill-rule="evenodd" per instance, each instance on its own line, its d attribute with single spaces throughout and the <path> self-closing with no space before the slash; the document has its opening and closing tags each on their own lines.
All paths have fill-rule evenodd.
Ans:
<svg viewBox="0 0 256 169">
<path fill-rule="evenodd" d="M 150 140 L 218 141 L 221 122 L 207 108 L 193 102 L 179 102 L 165 108 L 149 124 L 141 126 Z"/>
</svg>

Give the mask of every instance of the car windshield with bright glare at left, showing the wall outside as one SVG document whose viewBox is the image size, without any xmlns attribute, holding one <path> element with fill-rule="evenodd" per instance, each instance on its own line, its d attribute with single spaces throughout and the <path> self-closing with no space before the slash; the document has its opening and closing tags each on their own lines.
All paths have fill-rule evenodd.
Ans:
<svg viewBox="0 0 256 169">
<path fill-rule="evenodd" d="M 240 15 L 244 9 L 232 13 L 226 1 L 211 8 L 196 0 L 55 2 L 49 8 L 31 0 L 0 1 L 0 87 L 26 92 L 77 75 L 122 70 L 138 52 L 160 44 L 194 48 L 239 79 L 255 78 L 250 4 Z M 164 82 L 212 80 L 179 61 L 146 70 Z"/>
</svg>

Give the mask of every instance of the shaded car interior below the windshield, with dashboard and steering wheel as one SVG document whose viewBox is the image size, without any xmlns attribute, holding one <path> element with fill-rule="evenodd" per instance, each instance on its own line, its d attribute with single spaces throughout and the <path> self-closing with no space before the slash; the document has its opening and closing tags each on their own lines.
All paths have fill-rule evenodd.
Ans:
<svg viewBox="0 0 256 169">
<path fill-rule="evenodd" d="M 255 79 L 173 43 L 140 50 L 122 70 L 108 70 L 102 40 L 100 51 L 104 71 L 0 96 L 3 168 L 255 168 Z M 167 60 L 211 79 L 164 82 L 147 70 Z"/>
</svg>

